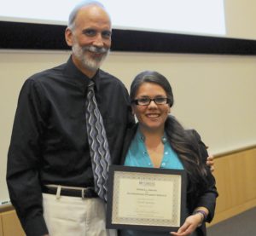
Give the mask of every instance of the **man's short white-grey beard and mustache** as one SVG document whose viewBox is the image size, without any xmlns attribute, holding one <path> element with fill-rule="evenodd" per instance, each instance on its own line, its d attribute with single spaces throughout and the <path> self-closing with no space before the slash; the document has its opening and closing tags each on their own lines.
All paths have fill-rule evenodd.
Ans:
<svg viewBox="0 0 256 236">
<path fill-rule="evenodd" d="M 106 59 L 109 53 L 109 49 L 106 49 L 106 48 L 97 49 L 94 46 L 80 47 L 79 43 L 74 43 L 72 50 L 73 50 L 73 55 L 75 55 L 82 62 L 82 65 L 84 66 L 84 68 L 90 71 L 96 71 L 98 68 L 100 68 L 100 66 L 102 66 L 102 62 Z M 105 55 L 103 55 L 98 60 L 91 58 L 89 55 L 90 51 L 93 52 L 97 50 L 101 50 L 103 53 L 105 53 Z"/>
</svg>

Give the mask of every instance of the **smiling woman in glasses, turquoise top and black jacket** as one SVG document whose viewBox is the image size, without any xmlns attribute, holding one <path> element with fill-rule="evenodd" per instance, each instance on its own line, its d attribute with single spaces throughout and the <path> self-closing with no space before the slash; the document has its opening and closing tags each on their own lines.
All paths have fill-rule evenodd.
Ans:
<svg viewBox="0 0 256 236">
<path fill-rule="evenodd" d="M 205 236 L 218 193 L 207 167 L 207 150 L 195 130 L 184 130 L 169 113 L 172 88 L 158 72 L 141 72 L 131 83 L 131 106 L 138 119 L 125 138 L 123 164 L 185 170 L 188 178 L 187 218 L 172 235 Z M 121 236 L 170 235 L 169 232 L 121 230 Z"/>
</svg>

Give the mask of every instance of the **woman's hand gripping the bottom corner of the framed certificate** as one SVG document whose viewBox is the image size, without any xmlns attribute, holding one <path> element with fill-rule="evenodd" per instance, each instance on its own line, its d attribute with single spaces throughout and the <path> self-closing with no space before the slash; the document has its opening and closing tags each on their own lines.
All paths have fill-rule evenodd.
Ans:
<svg viewBox="0 0 256 236">
<path fill-rule="evenodd" d="M 171 232 L 172 235 L 176 236 L 187 236 L 190 233 L 195 231 L 195 228 L 201 224 L 202 217 L 200 214 L 195 214 L 187 217 L 186 221 L 183 223 L 182 227 L 180 227 L 176 232 Z"/>
</svg>

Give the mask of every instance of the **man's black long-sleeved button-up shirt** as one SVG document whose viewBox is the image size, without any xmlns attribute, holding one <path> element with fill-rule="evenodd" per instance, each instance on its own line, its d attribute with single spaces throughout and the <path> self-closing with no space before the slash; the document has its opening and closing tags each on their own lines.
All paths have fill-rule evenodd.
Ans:
<svg viewBox="0 0 256 236">
<path fill-rule="evenodd" d="M 47 233 L 41 186 L 93 187 L 86 134 L 87 78 L 70 58 L 28 78 L 15 114 L 9 147 L 9 195 L 27 235 Z M 119 79 L 98 70 L 96 101 L 113 164 L 119 164 L 125 130 L 133 124 L 128 92 Z"/>
</svg>

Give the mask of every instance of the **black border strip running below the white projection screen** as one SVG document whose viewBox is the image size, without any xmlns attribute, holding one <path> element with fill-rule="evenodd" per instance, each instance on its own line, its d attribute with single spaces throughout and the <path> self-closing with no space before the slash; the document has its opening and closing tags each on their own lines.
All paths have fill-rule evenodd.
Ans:
<svg viewBox="0 0 256 236">
<path fill-rule="evenodd" d="M 66 50 L 66 26 L 0 21 L 0 49 Z M 113 29 L 113 51 L 256 55 L 256 40 Z"/>
</svg>

